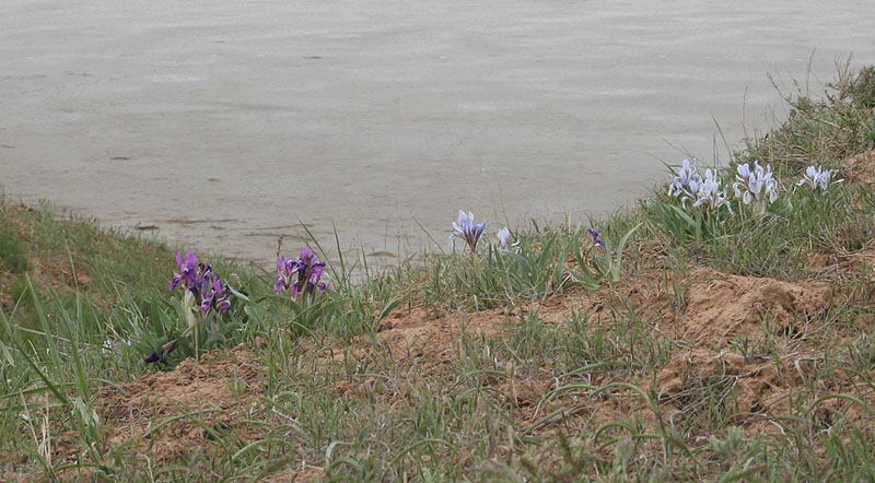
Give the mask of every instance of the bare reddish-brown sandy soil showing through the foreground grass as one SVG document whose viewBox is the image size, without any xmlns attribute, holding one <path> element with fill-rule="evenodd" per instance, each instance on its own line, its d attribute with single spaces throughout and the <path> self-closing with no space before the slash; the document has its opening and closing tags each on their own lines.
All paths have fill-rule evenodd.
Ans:
<svg viewBox="0 0 875 483">
<path fill-rule="evenodd" d="M 788 397 L 803 393 L 806 377 L 816 377 L 822 353 L 813 347 L 819 346 L 815 340 L 829 330 L 820 323 L 792 327 L 791 322 L 828 309 L 833 303 L 830 290 L 817 281 L 738 276 L 699 268 L 682 283 L 687 287 L 682 297 L 686 304 L 672 307 L 660 303 L 666 294 L 660 288 L 658 278 L 642 275 L 610 290 L 572 291 L 547 303 L 523 307 L 523 310 L 550 313 L 557 323 L 561 323 L 558 320 L 568 317 L 572 309 L 592 306 L 594 301 L 616 304 L 617 293 L 629 294 L 632 303 L 642 308 L 641 315 L 652 330 L 686 349 L 678 349 L 670 361 L 654 369 L 631 373 L 619 379 L 598 370 L 584 375 L 591 384 L 604 386 L 619 381 L 644 390 L 653 389 L 662 417 L 675 423 L 703 411 L 700 404 L 709 401 L 705 396 L 721 391 L 725 403 L 737 405 L 737 421 L 733 424 L 744 427 L 748 435 L 777 431 L 778 426 L 769 423 L 770 414 L 791 411 Z M 440 375 L 453 367 L 463 334 L 475 340 L 500 338 L 514 319 L 512 314 L 502 310 L 433 316 L 423 309 L 396 309 L 375 338 L 362 335 L 351 345 L 339 346 L 320 347 L 306 340 L 302 344 L 310 347 L 305 349 L 306 353 L 316 357 L 316 370 L 330 370 L 342 364 L 345 353 L 352 351 L 357 356 L 392 354 L 398 367 L 417 365 L 429 374 Z M 763 320 L 772 322 L 763 323 Z M 751 347 L 757 347 L 758 334 L 769 332 L 772 343 L 780 346 L 781 357 L 761 356 L 756 349 L 743 356 L 737 349 L 730 347 L 730 341 L 737 342 L 745 334 L 754 341 Z M 243 423 L 241 414 L 258 404 L 265 370 L 262 363 L 243 346 L 217 351 L 200 362 L 189 358 L 173 370 L 150 372 L 139 380 L 103 389 L 96 397 L 97 413 L 110 432 L 113 444 L 137 441 L 133 452 L 156 461 L 172 460 L 191 448 L 220 451 L 221 447 L 214 444 L 214 432 L 232 432 L 246 443 L 259 438 L 258 431 Z M 452 378 L 453 374 L 446 376 Z M 494 387 L 498 394 L 508 399 L 508 404 L 518 409 L 514 412 L 516 424 L 530 426 L 537 435 L 546 436 L 556 429 L 555 421 L 542 417 L 562 404 L 570 419 L 564 424 L 572 426 L 604 424 L 635 411 L 654 423 L 654 414 L 646 411 L 642 401 L 590 396 L 583 389 L 556 393 L 557 381 L 549 370 L 541 378 L 483 377 L 485 385 Z M 374 377 L 363 379 L 361 375 L 353 375 L 350 379 L 335 381 L 330 390 L 337 397 L 354 399 L 378 394 L 381 401 L 390 405 L 408 403 L 406 390 L 383 388 L 382 384 Z M 852 386 L 854 380 L 827 380 L 825 384 L 828 389 L 839 391 Z M 871 396 L 866 398 L 868 401 Z M 828 409 L 831 408 L 833 413 L 847 414 L 851 421 L 872 422 L 858 409 L 835 402 L 835 408 L 830 405 L 824 410 L 824 417 L 830 416 Z M 210 424 L 205 426 L 178 417 L 192 411 L 198 415 L 203 413 L 205 421 Z M 813 417 L 820 416 L 820 413 L 813 414 Z M 159 422 L 166 422 L 160 426 L 160 432 L 150 429 L 158 427 Z M 70 461 L 77 457 L 75 445 L 67 437 L 57 440 L 54 451 L 55 461 Z M 305 479 L 318 479 L 317 470 L 313 469 Z M 296 469 L 292 473 L 304 478 Z"/>
</svg>

